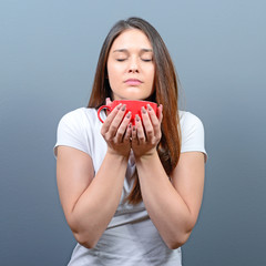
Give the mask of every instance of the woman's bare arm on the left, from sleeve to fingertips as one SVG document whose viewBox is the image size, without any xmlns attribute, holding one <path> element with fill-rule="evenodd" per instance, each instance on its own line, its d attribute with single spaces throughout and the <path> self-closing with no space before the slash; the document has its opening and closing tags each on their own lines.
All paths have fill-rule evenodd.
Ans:
<svg viewBox="0 0 266 266">
<path fill-rule="evenodd" d="M 88 248 L 98 243 L 120 202 L 131 135 L 130 117 L 121 123 L 124 111 L 115 109 L 102 126 L 108 152 L 95 176 L 86 153 L 58 147 L 57 177 L 62 207 L 76 241 Z"/>
</svg>

